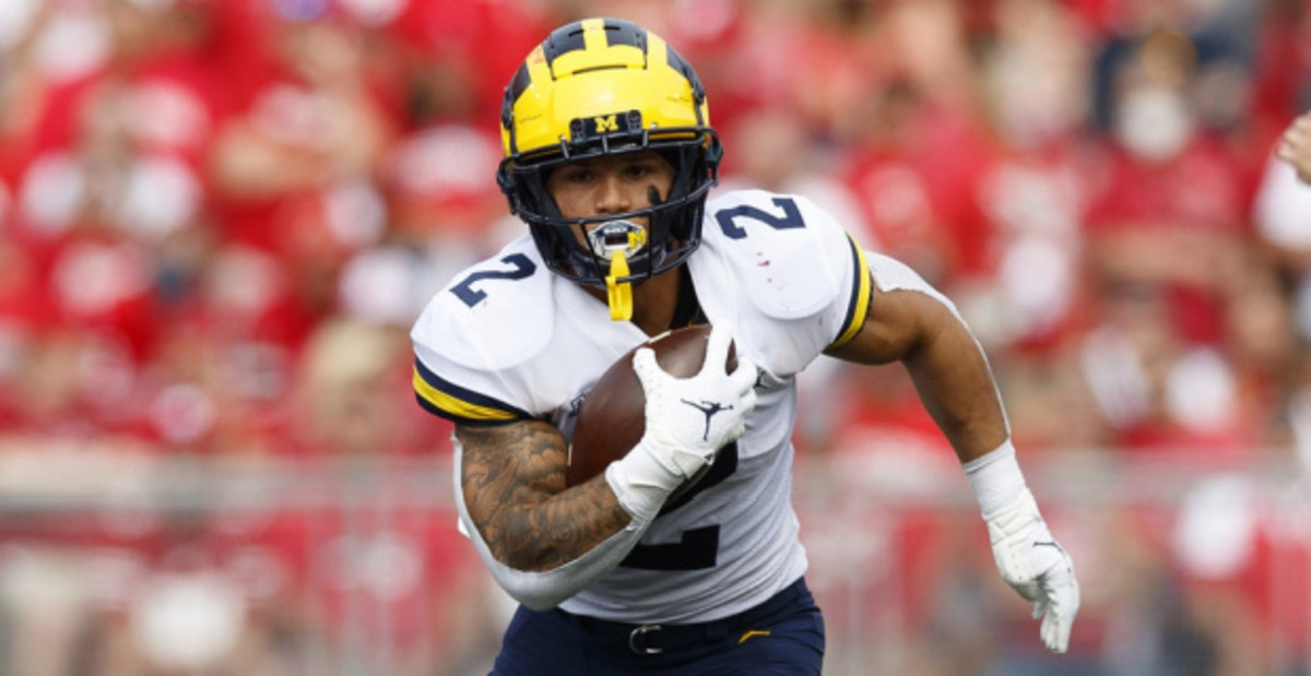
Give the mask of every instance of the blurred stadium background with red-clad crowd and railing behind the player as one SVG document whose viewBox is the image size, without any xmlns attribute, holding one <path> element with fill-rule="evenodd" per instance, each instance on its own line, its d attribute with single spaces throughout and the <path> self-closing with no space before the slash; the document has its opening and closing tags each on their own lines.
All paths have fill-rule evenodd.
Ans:
<svg viewBox="0 0 1311 676">
<path fill-rule="evenodd" d="M 834 675 L 1311 673 L 1299 0 L 4 0 L 0 675 L 484 673 L 409 322 L 522 231 L 555 25 L 687 55 L 724 183 L 806 193 L 971 321 L 1083 612 L 1045 655 L 897 369 L 806 373 Z M 480 671 L 481 669 L 481 671 Z"/>
</svg>

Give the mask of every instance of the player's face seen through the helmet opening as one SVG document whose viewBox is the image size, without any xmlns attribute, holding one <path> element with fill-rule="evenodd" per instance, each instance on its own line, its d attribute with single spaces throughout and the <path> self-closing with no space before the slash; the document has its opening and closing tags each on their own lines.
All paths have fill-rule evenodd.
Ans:
<svg viewBox="0 0 1311 676">
<path fill-rule="evenodd" d="M 652 197 L 665 199 L 674 174 L 674 165 L 659 153 L 640 151 L 564 164 L 547 177 L 547 190 L 561 216 L 604 220 L 608 215 L 654 206 Z M 645 217 L 632 220 L 646 225 Z"/>
</svg>

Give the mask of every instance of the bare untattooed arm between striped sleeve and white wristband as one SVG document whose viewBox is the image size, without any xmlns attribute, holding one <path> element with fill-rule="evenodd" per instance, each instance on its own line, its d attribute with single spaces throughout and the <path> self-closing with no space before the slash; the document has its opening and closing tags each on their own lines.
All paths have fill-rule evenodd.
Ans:
<svg viewBox="0 0 1311 676">
<path fill-rule="evenodd" d="M 965 324 L 928 293 L 876 286 L 860 333 L 829 355 L 861 364 L 901 362 L 961 462 L 1009 436 L 983 351 Z"/>
</svg>

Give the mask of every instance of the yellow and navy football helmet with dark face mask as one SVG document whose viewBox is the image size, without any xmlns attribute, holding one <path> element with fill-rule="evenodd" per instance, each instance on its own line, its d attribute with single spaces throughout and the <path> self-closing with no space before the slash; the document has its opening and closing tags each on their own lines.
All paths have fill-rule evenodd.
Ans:
<svg viewBox="0 0 1311 676">
<path fill-rule="evenodd" d="M 678 266 L 700 244 L 705 195 L 717 181 L 722 149 L 696 72 L 654 33 L 616 18 L 552 31 L 505 89 L 501 139 L 501 191 L 560 275 L 608 283 L 614 293 L 616 284 L 627 290 Z M 663 202 L 607 216 L 591 236 L 587 225 L 595 219 L 560 215 L 545 190 L 553 168 L 644 149 L 659 152 L 676 170 Z M 649 217 L 646 232 L 627 223 L 633 216 Z"/>
</svg>

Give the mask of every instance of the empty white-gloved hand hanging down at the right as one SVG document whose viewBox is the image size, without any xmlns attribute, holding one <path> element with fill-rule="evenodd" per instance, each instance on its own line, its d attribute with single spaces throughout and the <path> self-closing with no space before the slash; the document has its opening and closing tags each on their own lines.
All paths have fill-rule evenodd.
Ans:
<svg viewBox="0 0 1311 676">
<path fill-rule="evenodd" d="M 1033 601 L 1033 618 L 1042 618 L 1042 643 L 1053 652 L 1070 646 L 1070 629 L 1079 612 L 1079 582 L 1074 562 L 1047 531 L 1033 494 L 987 520 L 996 569 L 1020 596 Z"/>
</svg>

